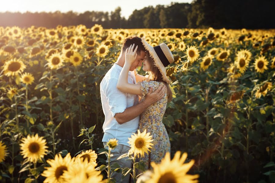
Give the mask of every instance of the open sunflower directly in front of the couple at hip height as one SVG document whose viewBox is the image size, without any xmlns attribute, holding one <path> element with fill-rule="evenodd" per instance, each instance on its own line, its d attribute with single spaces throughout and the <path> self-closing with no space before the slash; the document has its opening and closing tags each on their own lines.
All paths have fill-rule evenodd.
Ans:
<svg viewBox="0 0 275 183">
<path fill-rule="evenodd" d="M 146 134 L 146 129 L 144 132 L 140 133 L 138 130 L 138 134 L 131 135 L 131 138 L 129 139 L 129 144 L 131 149 L 129 150 L 130 154 L 134 153 L 134 156 L 141 154 L 142 157 L 144 157 L 144 152 L 148 153 L 149 148 L 152 148 L 151 146 L 153 145 L 151 142 L 152 140 L 152 135 L 149 136 L 150 133 Z"/>
</svg>

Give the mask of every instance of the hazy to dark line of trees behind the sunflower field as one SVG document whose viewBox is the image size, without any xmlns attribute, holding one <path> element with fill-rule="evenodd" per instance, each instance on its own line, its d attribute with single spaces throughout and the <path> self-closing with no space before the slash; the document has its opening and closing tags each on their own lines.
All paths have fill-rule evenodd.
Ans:
<svg viewBox="0 0 275 183">
<path fill-rule="evenodd" d="M 189 3 L 148 6 L 134 10 L 128 19 L 121 16 L 121 8 L 112 12 L 86 11 L 76 13 L 26 12 L 0 13 L 0 26 L 55 28 L 57 25 L 83 24 L 90 28 L 275 28 L 274 0 L 194 0 Z"/>
</svg>

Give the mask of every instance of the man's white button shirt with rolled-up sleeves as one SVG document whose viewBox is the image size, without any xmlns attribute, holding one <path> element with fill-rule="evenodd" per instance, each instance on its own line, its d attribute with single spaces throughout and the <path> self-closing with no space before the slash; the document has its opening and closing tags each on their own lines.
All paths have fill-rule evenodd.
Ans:
<svg viewBox="0 0 275 183">
<path fill-rule="evenodd" d="M 138 104 L 138 96 L 123 93 L 116 88 L 122 67 L 114 63 L 100 83 L 100 95 L 105 121 L 102 129 L 104 132 L 102 142 L 108 142 L 110 138 L 116 138 L 119 144 L 127 145 L 132 133 L 138 129 L 139 116 L 126 123 L 119 124 L 114 116 L 131 106 Z M 136 84 L 134 71 L 128 73 L 128 83 Z"/>
</svg>

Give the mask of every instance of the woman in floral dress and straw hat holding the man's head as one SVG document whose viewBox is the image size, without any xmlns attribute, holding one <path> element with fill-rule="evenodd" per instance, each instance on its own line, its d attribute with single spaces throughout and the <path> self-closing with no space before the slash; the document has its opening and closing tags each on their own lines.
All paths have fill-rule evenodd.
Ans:
<svg viewBox="0 0 275 183">
<path fill-rule="evenodd" d="M 147 50 L 143 70 L 149 72 L 149 77 L 143 77 L 144 81 L 139 81 L 137 84 L 129 84 L 127 82 L 129 68 L 137 57 L 137 46 L 134 49 L 134 45 L 131 45 L 125 52 L 125 64 L 119 75 L 117 88 L 125 93 L 140 95 L 141 102 L 145 99 L 149 87 L 152 87 L 153 91 L 162 84 L 166 87 L 166 93 L 163 98 L 149 106 L 140 115 L 138 129 L 141 133 L 146 129 L 147 132 L 150 132 L 150 135 L 152 135 L 152 139 L 154 140 L 152 142 L 154 145 L 151 152 L 145 154 L 144 158 L 139 159 L 145 161 L 145 169 L 147 170 L 151 169 L 152 161 L 160 163 L 166 152 L 170 152 L 171 149 L 169 137 L 162 123 L 162 119 L 166 110 L 167 102 L 170 102 L 172 99 L 172 92 L 169 87 L 171 81 L 166 76 L 165 67 L 174 62 L 174 57 L 165 43 L 152 47 L 145 41 L 145 38 L 141 38 L 141 41 Z"/>
</svg>

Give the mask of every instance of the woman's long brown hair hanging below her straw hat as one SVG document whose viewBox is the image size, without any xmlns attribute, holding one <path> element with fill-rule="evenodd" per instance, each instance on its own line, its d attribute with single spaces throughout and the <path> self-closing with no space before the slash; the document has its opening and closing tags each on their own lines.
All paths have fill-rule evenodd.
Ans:
<svg viewBox="0 0 275 183">
<path fill-rule="evenodd" d="M 168 102 L 170 102 L 172 100 L 172 91 L 169 87 L 169 84 L 166 83 L 165 81 L 163 81 L 162 74 L 160 73 L 160 70 L 154 65 L 154 60 L 150 56 L 148 51 L 146 52 L 146 59 L 150 65 L 148 81 L 158 81 L 158 82 L 162 82 L 163 84 L 165 84 L 168 89 L 168 91 L 167 91 Z"/>
</svg>

